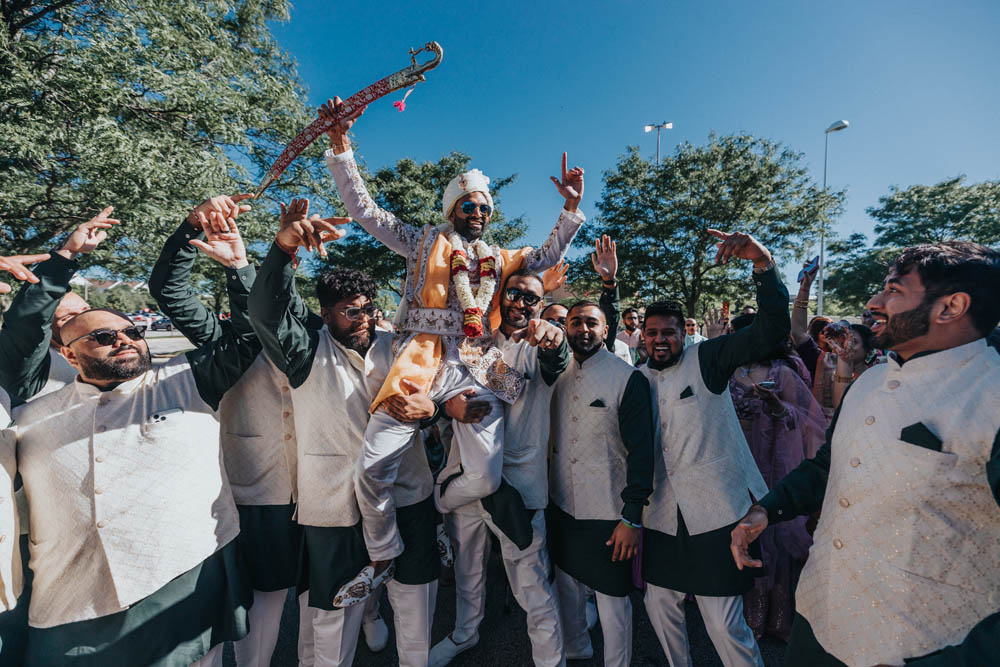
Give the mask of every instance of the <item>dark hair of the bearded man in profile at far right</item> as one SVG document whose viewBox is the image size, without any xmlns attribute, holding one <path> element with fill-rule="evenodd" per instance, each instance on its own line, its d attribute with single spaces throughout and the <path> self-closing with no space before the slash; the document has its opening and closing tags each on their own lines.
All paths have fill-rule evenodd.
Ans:
<svg viewBox="0 0 1000 667">
<path fill-rule="evenodd" d="M 1000 251 L 971 241 L 945 241 L 906 248 L 893 262 L 902 276 L 916 269 L 924 303 L 965 292 L 972 303 L 969 318 L 982 335 L 1000 321 Z"/>
</svg>

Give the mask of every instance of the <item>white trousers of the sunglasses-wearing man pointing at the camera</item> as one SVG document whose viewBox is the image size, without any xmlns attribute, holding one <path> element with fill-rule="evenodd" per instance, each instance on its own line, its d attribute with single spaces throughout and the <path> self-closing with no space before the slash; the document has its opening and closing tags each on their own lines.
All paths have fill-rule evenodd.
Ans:
<svg viewBox="0 0 1000 667">
<path fill-rule="evenodd" d="M 514 598 L 527 615 L 531 657 L 536 666 L 565 665 L 559 604 L 549 582 L 549 552 L 545 542 L 545 513 L 531 520 L 532 540 L 521 551 L 496 527 L 476 502 L 447 515 L 448 535 L 455 546 L 455 630 L 461 644 L 476 634 L 486 613 L 486 555 L 489 532 L 500 540 L 500 554 Z"/>
</svg>

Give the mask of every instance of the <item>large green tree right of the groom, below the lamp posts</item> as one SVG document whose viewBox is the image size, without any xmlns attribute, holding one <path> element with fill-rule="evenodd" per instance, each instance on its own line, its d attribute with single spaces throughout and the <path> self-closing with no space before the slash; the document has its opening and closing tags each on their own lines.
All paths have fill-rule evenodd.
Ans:
<svg viewBox="0 0 1000 667">
<path fill-rule="evenodd" d="M 659 166 L 630 146 L 604 174 L 600 215 L 577 237 L 593 246 L 601 234 L 618 244 L 619 283 L 635 300 L 669 297 L 691 316 L 728 300 L 751 301 L 741 263 L 714 264 L 707 230 L 749 232 L 776 257 L 802 257 L 804 241 L 841 209 L 843 192 L 818 189 L 802 155 L 747 135 L 709 135 L 708 143 L 679 145 Z M 578 290 L 596 281 L 587 257 L 574 262 Z"/>
</svg>

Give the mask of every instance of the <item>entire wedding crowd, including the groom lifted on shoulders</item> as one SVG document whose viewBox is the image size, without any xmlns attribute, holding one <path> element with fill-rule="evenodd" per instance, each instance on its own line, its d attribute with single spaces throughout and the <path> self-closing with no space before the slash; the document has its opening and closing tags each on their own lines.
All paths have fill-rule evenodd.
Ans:
<svg viewBox="0 0 1000 667">
<path fill-rule="evenodd" d="M 668 298 L 621 309 L 607 237 L 597 301 L 546 303 L 585 221 L 565 154 L 549 239 L 507 250 L 482 241 L 478 170 L 440 226 L 380 209 L 349 126 L 325 155 L 349 219 L 282 205 L 255 266 L 250 196 L 217 196 L 165 240 L 150 291 L 195 346 L 165 363 L 70 289 L 110 208 L 0 258 L 25 281 L 0 331 L 0 662 L 220 665 L 232 641 L 267 665 L 294 591 L 300 664 L 350 665 L 361 637 L 387 645 L 385 590 L 399 663 L 446 665 L 491 631 L 491 536 L 536 665 L 592 657 L 595 624 L 628 665 L 637 590 L 674 666 L 686 601 L 726 665 L 763 665 L 764 635 L 792 665 L 995 661 L 1000 253 L 905 249 L 851 324 L 809 320 L 808 273 L 789 309 L 768 249 L 710 230 L 756 304 L 703 335 Z M 360 271 L 320 273 L 319 312 L 296 290 L 300 249 L 351 220 L 406 259 L 392 324 Z M 225 268 L 226 322 L 192 285 L 199 252 Z M 443 569 L 455 627 L 432 645 Z"/>
</svg>

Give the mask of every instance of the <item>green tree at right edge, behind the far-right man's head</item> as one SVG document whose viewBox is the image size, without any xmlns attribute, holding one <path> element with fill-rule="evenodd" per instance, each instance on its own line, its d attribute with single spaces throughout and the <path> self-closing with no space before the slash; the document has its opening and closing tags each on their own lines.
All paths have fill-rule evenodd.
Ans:
<svg viewBox="0 0 1000 667">
<path fill-rule="evenodd" d="M 965 185 L 957 176 L 935 185 L 893 186 L 867 209 L 875 220 L 875 241 L 864 234 L 830 244 L 826 290 L 845 312 L 859 313 L 882 288 L 900 250 L 949 240 L 1000 243 L 1000 181 Z"/>
</svg>

